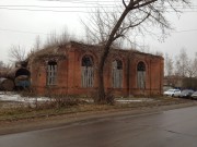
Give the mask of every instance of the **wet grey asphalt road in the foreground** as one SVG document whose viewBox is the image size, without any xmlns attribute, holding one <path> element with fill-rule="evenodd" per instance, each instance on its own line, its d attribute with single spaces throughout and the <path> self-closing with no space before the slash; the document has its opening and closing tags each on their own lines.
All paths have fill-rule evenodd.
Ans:
<svg viewBox="0 0 197 147">
<path fill-rule="evenodd" d="M 197 147 L 197 107 L 2 135 L 0 147 Z"/>
</svg>

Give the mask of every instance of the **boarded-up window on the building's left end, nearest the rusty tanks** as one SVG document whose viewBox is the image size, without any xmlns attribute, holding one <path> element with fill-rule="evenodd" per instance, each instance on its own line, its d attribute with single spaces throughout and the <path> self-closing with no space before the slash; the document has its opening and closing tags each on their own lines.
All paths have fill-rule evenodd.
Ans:
<svg viewBox="0 0 197 147">
<path fill-rule="evenodd" d="M 56 85 L 57 82 L 57 62 L 49 61 L 47 65 L 47 85 Z"/>
</svg>

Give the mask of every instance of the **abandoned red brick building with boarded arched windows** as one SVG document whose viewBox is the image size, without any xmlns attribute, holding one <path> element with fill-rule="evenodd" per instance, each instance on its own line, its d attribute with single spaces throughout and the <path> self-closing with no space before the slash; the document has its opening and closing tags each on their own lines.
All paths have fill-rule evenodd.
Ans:
<svg viewBox="0 0 197 147">
<path fill-rule="evenodd" d="M 91 95 L 97 88 L 101 47 L 74 41 L 43 49 L 28 59 L 33 90 L 39 95 Z M 105 88 L 116 96 L 161 95 L 163 58 L 112 49 L 104 66 Z"/>
</svg>

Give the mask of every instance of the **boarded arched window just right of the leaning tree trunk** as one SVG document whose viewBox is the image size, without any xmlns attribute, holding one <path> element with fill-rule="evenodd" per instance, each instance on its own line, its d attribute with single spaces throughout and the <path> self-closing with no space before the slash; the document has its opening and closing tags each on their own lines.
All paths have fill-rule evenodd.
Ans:
<svg viewBox="0 0 197 147">
<path fill-rule="evenodd" d="M 113 62 L 113 88 L 123 87 L 123 63 L 120 60 L 115 60 Z"/>
</svg>

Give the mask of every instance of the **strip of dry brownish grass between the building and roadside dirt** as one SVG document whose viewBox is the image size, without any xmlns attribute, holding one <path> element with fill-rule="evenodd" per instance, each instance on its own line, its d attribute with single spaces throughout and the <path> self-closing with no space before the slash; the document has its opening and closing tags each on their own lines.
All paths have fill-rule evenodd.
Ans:
<svg viewBox="0 0 197 147">
<path fill-rule="evenodd" d="M 127 98 L 127 100 L 132 100 L 136 98 Z M 62 99 L 58 98 L 54 101 L 47 101 L 44 103 L 37 103 L 35 107 L 32 106 L 20 106 L 18 108 L 0 108 L 0 121 L 16 121 L 23 119 L 34 119 L 34 118 L 46 118 L 50 115 L 61 115 L 69 113 L 79 112 L 92 112 L 92 111 L 106 111 L 106 110 L 120 110 L 120 109 L 140 109 L 146 107 L 160 107 L 177 103 L 190 102 L 187 99 L 178 99 L 171 97 L 162 98 L 151 98 L 147 101 L 119 103 L 116 102 L 111 105 L 95 105 L 88 103 L 80 99 Z M 1 103 L 1 102 L 0 102 Z"/>
</svg>

